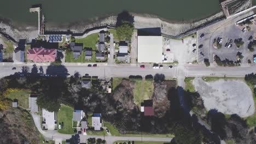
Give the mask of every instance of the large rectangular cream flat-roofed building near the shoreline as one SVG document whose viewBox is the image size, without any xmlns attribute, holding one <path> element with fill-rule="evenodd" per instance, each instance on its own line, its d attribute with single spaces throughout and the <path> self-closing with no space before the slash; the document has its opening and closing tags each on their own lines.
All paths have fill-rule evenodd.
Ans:
<svg viewBox="0 0 256 144">
<path fill-rule="evenodd" d="M 162 62 L 162 36 L 138 36 L 138 63 Z"/>
</svg>

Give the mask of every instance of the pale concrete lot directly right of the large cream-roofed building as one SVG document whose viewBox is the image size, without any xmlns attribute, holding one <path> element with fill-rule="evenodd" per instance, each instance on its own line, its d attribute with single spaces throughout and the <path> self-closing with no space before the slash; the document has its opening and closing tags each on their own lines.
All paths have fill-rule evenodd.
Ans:
<svg viewBox="0 0 256 144">
<path fill-rule="evenodd" d="M 179 64 L 192 63 L 196 60 L 196 38 L 188 37 L 183 40 L 163 38 L 163 53 L 166 62 L 178 61 Z M 195 50 L 193 52 L 193 50 Z"/>
</svg>

